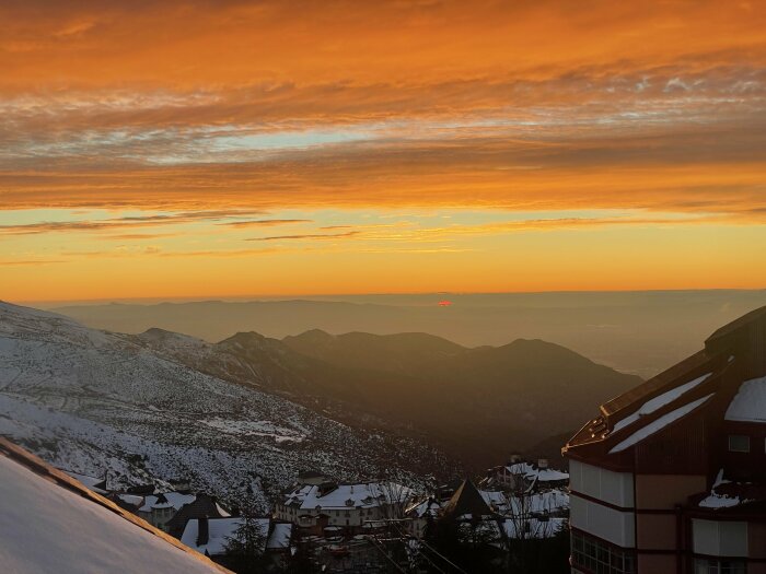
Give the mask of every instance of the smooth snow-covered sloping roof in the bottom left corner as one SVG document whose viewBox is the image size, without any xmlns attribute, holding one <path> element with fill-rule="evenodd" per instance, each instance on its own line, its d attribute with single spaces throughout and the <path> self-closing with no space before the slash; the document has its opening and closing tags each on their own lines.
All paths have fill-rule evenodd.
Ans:
<svg viewBox="0 0 766 574">
<path fill-rule="evenodd" d="M 211 563 L 0 456 L 0 557 L 14 574 L 210 574 Z"/>
</svg>

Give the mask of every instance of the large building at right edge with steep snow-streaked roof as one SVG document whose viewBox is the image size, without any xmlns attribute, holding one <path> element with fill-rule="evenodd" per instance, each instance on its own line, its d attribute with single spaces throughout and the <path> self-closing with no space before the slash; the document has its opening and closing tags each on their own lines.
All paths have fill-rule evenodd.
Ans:
<svg viewBox="0 0 766 574">
<path fill-rule="evenodd" d="M 573 573 L 766 573 L 766 307 L 565 446 Z"/>
</svg>

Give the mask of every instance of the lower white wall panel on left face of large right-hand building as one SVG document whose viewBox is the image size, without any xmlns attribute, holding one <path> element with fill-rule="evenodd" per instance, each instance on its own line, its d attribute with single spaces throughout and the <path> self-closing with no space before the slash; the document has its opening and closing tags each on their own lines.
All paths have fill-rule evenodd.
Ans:
<svg viewBox="0 0 766 574">
<path fill-rule="evenodd" d="M 570 495 L 569 504 L 569 523 L 572 527 L 623 548 L 636 547 L 634 513 L 616 511 L 574 493 Z"/>
</svg>

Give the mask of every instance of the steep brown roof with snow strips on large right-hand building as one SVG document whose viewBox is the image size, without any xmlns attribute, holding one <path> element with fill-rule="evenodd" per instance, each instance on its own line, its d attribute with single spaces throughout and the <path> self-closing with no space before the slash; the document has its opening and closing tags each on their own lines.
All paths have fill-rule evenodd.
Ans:
<svg viewBox="0 0 766 574">
<path fill-rule="evenodd" d="M 698 413 L 766 423 L 764 341 L 766 307 L 721 327 L 703 351 L 602 405 L 564 450 L 605 461 Z"/>
</svg>

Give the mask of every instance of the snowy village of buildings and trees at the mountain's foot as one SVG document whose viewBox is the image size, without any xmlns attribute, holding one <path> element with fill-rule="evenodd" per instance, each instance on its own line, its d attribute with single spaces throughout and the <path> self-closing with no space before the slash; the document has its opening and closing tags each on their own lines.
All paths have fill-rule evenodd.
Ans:
<svg viewBox="0 0 766 574">
<path fill-rule="evenodd" d="M 536 566 L 524 562 L 569 548 L 569 475 L 519 455 L 431 492 L 307 470 L 270 513 L 247 500 L 225 506 L 184 479 L 112 490 L 104 478 L 65 472 L 234 572 L 462 572 L 462 553 L 487 572 L 526 572 Z"/>
</svg>

